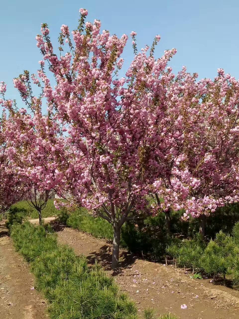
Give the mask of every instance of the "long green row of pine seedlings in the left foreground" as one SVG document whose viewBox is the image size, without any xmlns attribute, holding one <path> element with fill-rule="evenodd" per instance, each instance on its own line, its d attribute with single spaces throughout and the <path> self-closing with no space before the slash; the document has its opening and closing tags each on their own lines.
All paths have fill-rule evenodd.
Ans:
<svg viewBox="0 0 239 319">
<path fill-rule="evenodd" d="M 33 226 L 25 222 L 11 226 L 15 249 L 30 263 L 35 287 L 48 300 L 51 319 L 137 319 L 135 303 L 121 293 L 112 277 L 106 275 L 96 262 L 88 267 L 84 256 L 57 243 L 52 228 Z M 145 319 L 154 311 L 147 308 Z M 177 319 L 165 314 L 159 318 Z"/>
</svg>

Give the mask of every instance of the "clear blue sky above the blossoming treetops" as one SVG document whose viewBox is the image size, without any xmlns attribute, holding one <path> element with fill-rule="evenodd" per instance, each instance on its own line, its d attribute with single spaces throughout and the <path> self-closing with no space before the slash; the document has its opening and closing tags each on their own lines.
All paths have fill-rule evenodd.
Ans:
<svg viewBox="0 0 239 319">
<path fill-rule="evenodd" d="M 53 43 L 62 24 L 76 28 L 79 8 L 88 10 L 88 21 L 100 19 L 102 30 L 120 36 L 137 32 L 138 48 L 150 45 L 161 35 L 155 56 L 165 49 L 177 48 L 170 65 L 177 72 L 186 65 L 199 78 L 214 78 L 217 68 L 224 68 L 239 78 L 239 2 L 237 0 L 7 0 L 0 9 L 0 81 L 8 84 L 8 97 L 18 98 L 12 79 L 27 69 L 36 73 L 41 59 L 35 36 L 46 22 Z M 133 54 L 129 41 L 124 68 Z"/>
</svg>

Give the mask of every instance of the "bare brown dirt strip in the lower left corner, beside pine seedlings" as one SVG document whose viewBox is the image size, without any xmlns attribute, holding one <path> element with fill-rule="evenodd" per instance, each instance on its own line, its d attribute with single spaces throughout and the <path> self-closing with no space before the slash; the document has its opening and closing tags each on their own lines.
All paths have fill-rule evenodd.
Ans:
<svg viewBox="0 0 239 319">
<path fill-rule="evenodd" d="M 46 319 L 46 301 L 33 287 L 29 265 L 15 252 L 0 223 L 0 318 Z"/>
</svg>

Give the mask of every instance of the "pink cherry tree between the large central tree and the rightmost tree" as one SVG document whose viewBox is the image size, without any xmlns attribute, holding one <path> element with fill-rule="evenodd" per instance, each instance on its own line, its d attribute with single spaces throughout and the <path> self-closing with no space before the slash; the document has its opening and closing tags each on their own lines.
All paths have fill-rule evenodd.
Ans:
<svg viewBox="0 0 239 319">
<path fill-rule="evenodd" d="M 197 77 L 197 73 L 187 73 L 184 66 L 175 77 L 172 76 L 162 101 L 167 105 L 168 114 L 161 132 L 160 148 L 154 151 L 157 171 L 154 174 L 155 180 L 149 187 L 149 193 L 154 198 L 152 211 L 155 214 L 159 210 L 165 213 L 165 228 L 168 235 L 170 211 L 185 208 L 185 201 L 190 196 L 194 181 L 181 162 L 185 159 L 185 148 L 190 148 L 185 133 L 194 131 L 194 123 L 198 120 L 198 116 L 192 116 L 192 105 L 200 89 L 196 83 Z M 161 130 L 162 127 L 158 129 Z"/>
</svg>

